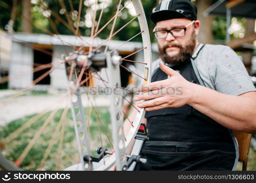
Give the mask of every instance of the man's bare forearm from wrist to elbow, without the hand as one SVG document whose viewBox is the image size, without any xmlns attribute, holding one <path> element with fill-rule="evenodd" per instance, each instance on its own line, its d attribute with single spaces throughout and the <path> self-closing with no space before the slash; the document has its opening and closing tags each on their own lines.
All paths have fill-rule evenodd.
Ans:
<svg viewBox="0 0 256 183">
<path fill-rule="evenodd" d="M 197 85 L 189 105 L 232 130 L 256 132 L 256 100 Z"/>
</svg>

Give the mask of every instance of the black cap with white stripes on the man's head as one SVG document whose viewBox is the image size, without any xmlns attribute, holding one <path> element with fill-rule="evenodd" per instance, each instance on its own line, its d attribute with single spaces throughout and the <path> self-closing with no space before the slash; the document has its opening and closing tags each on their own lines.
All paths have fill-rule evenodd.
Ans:
<svg viewBox="0 0 256 183">
<path fill-rule="evenodd" d="M 197 19 L 197 7 L 189 0 L 163 0 L 151 14 L 154 23 L 173 18 Z"/>
</svg>

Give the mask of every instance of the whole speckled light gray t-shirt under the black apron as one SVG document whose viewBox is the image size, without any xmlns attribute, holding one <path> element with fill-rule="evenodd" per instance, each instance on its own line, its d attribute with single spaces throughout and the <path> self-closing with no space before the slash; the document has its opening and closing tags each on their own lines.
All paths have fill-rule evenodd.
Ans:
<svg viewBox="0 0 256 183">
<path fill-rule="evenodd" d="M 200 44 L 192 58 L 205 86 L 220 93 L 238 96 L 256 91 L 244 64 L 237 54 L 225 45 Z M 152 76 L 159 68 L 157 59 L 152 63 Z"/>
</svg>

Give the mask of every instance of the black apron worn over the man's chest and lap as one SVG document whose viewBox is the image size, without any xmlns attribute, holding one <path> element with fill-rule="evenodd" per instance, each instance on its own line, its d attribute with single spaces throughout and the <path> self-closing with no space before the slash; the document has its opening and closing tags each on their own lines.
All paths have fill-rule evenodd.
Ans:
<svg viewBox="0 0 256 183">
<path fill-rule="evenodd" d="M 191 60 L 171 68 L 200 85 Z M 151 82 L 167 77 L 158 68 Z M 230 130 L 190 105 L 147 111 L 145 117 L 150 141 L 145 143 L 142 157 L 147 163 L 138 164 L 136 170 L 233 169 L 236 150 Z"/>
</svg>

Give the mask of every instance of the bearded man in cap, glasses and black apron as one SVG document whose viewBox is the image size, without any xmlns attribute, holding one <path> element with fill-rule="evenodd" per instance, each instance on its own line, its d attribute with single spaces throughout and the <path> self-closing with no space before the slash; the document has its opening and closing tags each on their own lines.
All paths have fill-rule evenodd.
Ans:
<svg viewBox="0 0 256 183">
<path fill-rule="evenodd" d="M 189 0 L 163 0 L 151 19 L 160 59 L 139 88 L 149 92 L 134 97 L 150 135 L 137 170 L 235 170 L 232 130 L 256 132 L 256 89 L 242 61 L 228 46 L 198 43 Z"/>
</svg>

